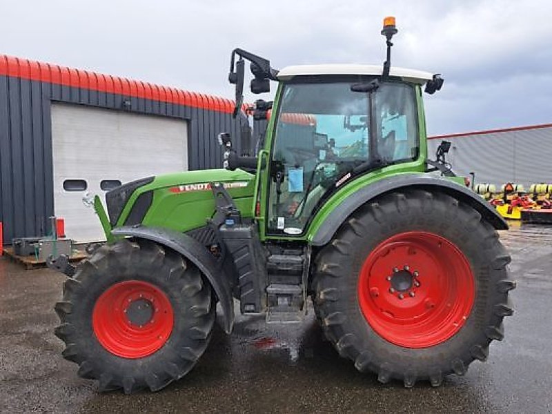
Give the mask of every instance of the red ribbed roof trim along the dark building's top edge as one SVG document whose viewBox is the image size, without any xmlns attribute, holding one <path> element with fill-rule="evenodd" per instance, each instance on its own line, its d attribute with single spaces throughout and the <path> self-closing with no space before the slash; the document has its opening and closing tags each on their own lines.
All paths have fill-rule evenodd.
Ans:
<svg viewBox="0 0 552 414">
<path fill-rule="evenodd" d="M 0 55 L 1 75 L 115 93 L 126 97 L 193 106 L 217 112 L 231 113 L 234 110 L 234 102 L 230 99 L 6 55 Z"/>
</svg>

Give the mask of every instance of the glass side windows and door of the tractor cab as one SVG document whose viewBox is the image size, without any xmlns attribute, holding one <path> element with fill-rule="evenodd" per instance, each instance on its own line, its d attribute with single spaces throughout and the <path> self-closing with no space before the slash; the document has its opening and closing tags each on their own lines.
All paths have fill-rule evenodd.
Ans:
<svg viewBox="0 0 552 414">
<path fill-rule="evenodd" d="M 415 87 L 284 85 L 270 162 L 268 232 L 301 234 L 319 201 L 355 174 L 416 159 Z"/>
</svg>

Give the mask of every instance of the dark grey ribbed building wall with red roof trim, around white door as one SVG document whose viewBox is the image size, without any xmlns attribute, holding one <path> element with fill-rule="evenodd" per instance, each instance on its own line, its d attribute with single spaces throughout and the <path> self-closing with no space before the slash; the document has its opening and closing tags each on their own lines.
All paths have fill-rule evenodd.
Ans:
<svg viewBox="0 0 552 414">
<path fill-rule="evenodd" d="M 120 111 L 130 100 L 130 112 L 184 119 L 190 126 L 190 170 L 221 167 L 219 132 L 230 132 L 237 150 L 242 150 L 239 138 L 247 119 L 231 117 L 233 103 L 228 99 L 6 59 L 0 55 L 0 221 L 6 244 L 13 237 L 49 231 L 48 217 L 54 213 L 52 102 Z M 33 70 L 21 70 L 33 64 Z M 84 84 L 90 89 L 78 87 Z"/>
</svg>

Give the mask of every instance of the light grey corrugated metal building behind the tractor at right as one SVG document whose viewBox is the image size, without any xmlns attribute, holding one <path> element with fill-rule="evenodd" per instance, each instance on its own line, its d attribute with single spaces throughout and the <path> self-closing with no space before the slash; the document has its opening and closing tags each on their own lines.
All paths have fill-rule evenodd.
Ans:
<svg viewBox="0 0 552 414">
<path fill-rule="evenodd" d="M 552 182 L 552 124 L 521 126 L 428 138 L 435 154 L 445 139 L 452 146 L 447 161 L 457 175 L 475 172 L 476 183 L 530 184 Z"/>
</svg>

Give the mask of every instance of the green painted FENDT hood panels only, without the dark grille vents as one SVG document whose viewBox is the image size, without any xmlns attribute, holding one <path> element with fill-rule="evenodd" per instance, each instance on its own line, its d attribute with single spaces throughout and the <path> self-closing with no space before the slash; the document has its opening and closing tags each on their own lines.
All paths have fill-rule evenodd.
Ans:
<svg viewBox="0 0 552 414">
<path fill-rule="evenodd" d="M 159 226 L 177 231 L 201 227 L 215 213 L 215 199 L 210 183 L 222 183 L 234 199 L 242 217 L 253 217 L 255 175 L 243 170 L 197 170 L 158 175 L 138 188 L 126 204 L 117 226 L 123 226 L 138 197 L 153 192 L 152 203 L 142 220 L 145 226 Z"/>
</svg>

